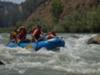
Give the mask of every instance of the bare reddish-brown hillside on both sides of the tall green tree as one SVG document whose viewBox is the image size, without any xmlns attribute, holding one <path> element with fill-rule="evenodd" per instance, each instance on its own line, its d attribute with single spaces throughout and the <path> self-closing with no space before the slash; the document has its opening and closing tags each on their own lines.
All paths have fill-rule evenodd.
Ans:
<svg viewBox="0 0 100 75">
<path fill-rule="evenodd" d="M 37 10 L 35 10 L 32 15 L 27 18 L 27 22 L 35 19 L 36 17 L 41 17 L 43 20 L 51 23 L 53 20 L 51 11 L 52 1 L 53 0 L 46 0 L 46 2 L 41 4 Z M 61 3 L 63 4 L 64 9 L 60 15 L 60 20 L 63 20 L 64 16 L 70 15 L 76 10 L 90 10 L 95 8 L 100 3 L 100 0 L 61 0 Z"/>
</svg>

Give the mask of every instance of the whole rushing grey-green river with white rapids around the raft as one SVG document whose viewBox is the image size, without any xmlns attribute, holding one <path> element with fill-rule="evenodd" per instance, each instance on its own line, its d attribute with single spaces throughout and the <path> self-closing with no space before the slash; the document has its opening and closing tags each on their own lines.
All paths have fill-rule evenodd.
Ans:
<svg viewBox="0 0 100 75">
<path fill-rule="evenodd" d="M 0 75 L 100 75 L 100 45 L 86 41 L 97 34 L 58 34 L 60 51 L 7 48 L 9 34 L 0 34 Z"/>
</svg>

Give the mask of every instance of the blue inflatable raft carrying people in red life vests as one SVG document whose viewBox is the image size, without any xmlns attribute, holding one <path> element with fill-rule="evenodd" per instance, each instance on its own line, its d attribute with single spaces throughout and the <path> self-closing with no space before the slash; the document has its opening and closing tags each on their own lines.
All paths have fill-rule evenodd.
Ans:
<svg viewBox="0 0 100 75">
<path fill-rule="evenodd" d="M 65 42 L 62 38 L 56 37 L 52 38 L 49 40 L 45 41 L 39 41 L 39 42 L 20 42 L 20 43 L 15 43 L 15 42 L 9 42 L 7 47 L 10 48 L 15 48 L 15 47 L 22 47 L 22 48 L 33 48 L 35 50 L 39 50 L 41 48 L 46 48 L 46 49 L 55 49 L 59 47 L 64 47 Z"/>
</svg>

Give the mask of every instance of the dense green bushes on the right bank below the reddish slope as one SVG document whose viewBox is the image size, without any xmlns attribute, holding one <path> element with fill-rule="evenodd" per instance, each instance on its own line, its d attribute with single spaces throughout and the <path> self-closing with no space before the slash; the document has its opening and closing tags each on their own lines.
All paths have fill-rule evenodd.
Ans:
<svg viewBox="0 0 100 75">
<path fill-rule="evenodd" d="M 66 32 L 100 32 L 100 6 L 95 10 L 77 10 L 66 16 L 62 25 Z"/>
</svg>

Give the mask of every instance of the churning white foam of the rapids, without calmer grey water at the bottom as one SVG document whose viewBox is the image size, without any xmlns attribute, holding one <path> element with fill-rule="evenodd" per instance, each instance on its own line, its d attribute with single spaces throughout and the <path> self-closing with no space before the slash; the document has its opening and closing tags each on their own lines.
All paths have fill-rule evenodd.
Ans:
<svg viewBox="0 0 100 75">
<path fill-rule="evenodd" d="M 0 45 L 0 56 L 12 61 L 11 69 L 24 73 L 27 68 L 51 69 L 73 73 L 100 73 L 100 46 L 87 45 L 86 41 L 96 34 L 78 35 L 79 38 L 65 38 L 66 47 L 59 52 L 48 51 L 45 48 L 39 51 L 25 48 L 7 48 Z M 19 54 L 19 55 L 16 55 Z M 30 61 L 29 61 L 30 60 Z M 33 60 L 33 61 L 32 61 Z M 22 63 L 21 63 L 22 61 Z M 17 68 L 24 68 L 17 69 Z"/>
</svg>

